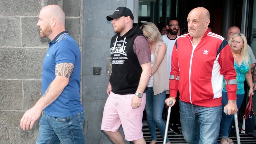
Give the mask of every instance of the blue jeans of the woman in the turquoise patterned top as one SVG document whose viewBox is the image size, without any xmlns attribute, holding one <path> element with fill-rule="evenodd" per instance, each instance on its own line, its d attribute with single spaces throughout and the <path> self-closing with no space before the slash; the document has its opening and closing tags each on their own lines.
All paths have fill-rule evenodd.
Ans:
<svg viewBox="0 0 256 144">
<path fill-rule="evenodd" d="M 244 94 L 237 94 L 236 95 L 236 105 L 238 110 L 240 109 L 242 102 L 244 100 Z M 220 132 L 221 132 L 221 139 L 228 139 L 228 135 L 231 131 L 232 125 L 234 123 L 234 115 L 226 115 L 223 111 L 223 108 L 228 103 L 228 93 L 222 92 L 222 119 L 220 123 Z"/>
</svg>

